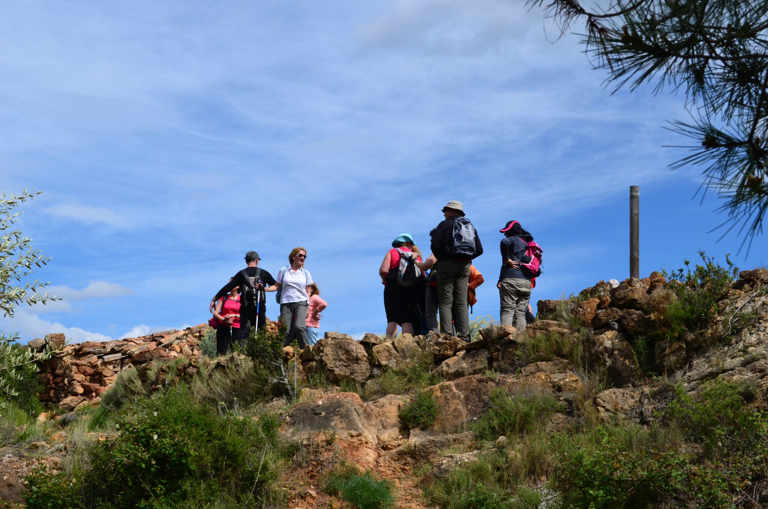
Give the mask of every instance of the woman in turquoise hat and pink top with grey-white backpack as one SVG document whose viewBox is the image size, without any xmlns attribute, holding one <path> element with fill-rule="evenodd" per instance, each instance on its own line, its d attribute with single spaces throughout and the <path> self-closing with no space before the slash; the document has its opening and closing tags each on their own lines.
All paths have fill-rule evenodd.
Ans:
<svg viewBox="0 0 768 509">
<path fill-rule="evenodd" d="M 386 335 L 394 338 L 398 326 L 402 334 L 413 334 L 414 324 L 420 324 L 416 312 L 419 278 L 422 271 L 415 265 L 422 262 L 422 252 L 416 247 L 410 234 L 404 233 L 392 241 L 379 268 L 384 285 L 384 310 L 386 311 Z"/>
</svg>

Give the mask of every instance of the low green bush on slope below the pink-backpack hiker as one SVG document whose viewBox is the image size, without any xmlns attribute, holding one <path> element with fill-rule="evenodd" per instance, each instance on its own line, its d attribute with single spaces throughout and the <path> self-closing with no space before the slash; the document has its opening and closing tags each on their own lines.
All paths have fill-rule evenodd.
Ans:
<svg viewBox="0 0 768 509">
<path fill-rule="evenodd" d="M 510 396 L 502 388 L 491 393 L 490 403 L 488 411 L 474 425 L 479 440 L 534 431 L 549 415 L 562 411 L 551 396 Z"/>
</svg>

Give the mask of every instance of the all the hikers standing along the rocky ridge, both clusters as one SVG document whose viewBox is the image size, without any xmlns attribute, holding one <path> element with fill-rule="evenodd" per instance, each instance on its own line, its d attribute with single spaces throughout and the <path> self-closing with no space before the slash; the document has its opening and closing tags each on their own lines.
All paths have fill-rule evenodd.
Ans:
<svg viewBox="0 0 768 509">
<path fill-rule="evenodd" d="M 470 340 L 469 308 L 477 302 L 476 290 L 484 278 L 472 265 L 483 254 L 477 230 L 466 218 L 460 201 L 442 208 L 444 221 L 429 232 L 432 253 L 424 258 L 409 234 L 399 235 L 386 252 L 379 276 L 384 285 L 386 335 L 426 334 L 439 331 Z M 532 318 L 531 288 L 541 274 L 541 248 L 518 221 L 499 230 L 502 269 L 496 284 L 501 301 L 502 324 L 525 328 Z M 280 322 L 287 325 L 283 344 L 295 338 L 300 348 L 315 344 L 319 314 L 327 307 L 319 288 L 306 270 L 306 249 L 293 248 L 289 264 L 277 277 L 259 267 L 259 255 L 248 251 L 246 268 L 230 278 L 210 301 L 214 314 L 209 324 L 217 328 L 217 353 L 226 354 L 242 344 L 253 328 L 266 324 L 266 292 L 276 292 Z M 429 271 L 429 272 L 428 272 Z"/>
</svg>

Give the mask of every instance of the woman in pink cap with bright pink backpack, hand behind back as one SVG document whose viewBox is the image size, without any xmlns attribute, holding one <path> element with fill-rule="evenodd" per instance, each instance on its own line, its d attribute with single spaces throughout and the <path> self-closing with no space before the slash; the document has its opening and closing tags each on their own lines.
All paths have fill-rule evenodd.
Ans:
<svg viewBox="0 0 768 509">
<path fill-rule="evenodd" d="M 531 298 L 531 279 L 541 274 L 541 248 L 533 235 L 525 231 L 518 221 L 508 221 L 499 230 L 502 238 L 502 271 L 498 276 L 502 325 L 525 329 L 525 311 Z"/>
</svg>

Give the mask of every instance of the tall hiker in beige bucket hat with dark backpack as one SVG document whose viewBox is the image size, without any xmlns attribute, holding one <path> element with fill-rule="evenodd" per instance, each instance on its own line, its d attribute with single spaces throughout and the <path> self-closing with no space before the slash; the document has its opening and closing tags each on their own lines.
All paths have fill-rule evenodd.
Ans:
<svg viewBox="0 0 768 509">
<path fill-rule="evenodd" d="M 472 223 L 464 217 L 461 201 L 449 201 L 442 208 L 445 221 L 432 233 L 432 254 L 440 262 L 437 271 L 440 332 L 469 341 L 467 286 L 469 266 L 482 255 L 482 244 Z"/>
</svg>

